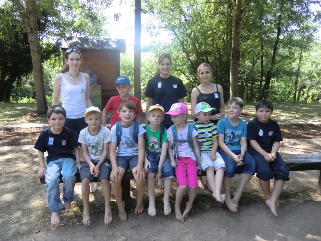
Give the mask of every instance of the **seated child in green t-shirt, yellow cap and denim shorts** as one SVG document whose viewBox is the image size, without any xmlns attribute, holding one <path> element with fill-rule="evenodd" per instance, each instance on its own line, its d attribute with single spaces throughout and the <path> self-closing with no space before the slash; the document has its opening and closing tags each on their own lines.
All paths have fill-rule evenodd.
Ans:
<svg viewBox="0 0 321 241">
<path fill-rule="evenodd" d="M 147 174 L 147 191 L 149 196 L 148 214 L 150 216 L 156 215 L 155 196 L 154 196 L 154 178 L 161 177 L 164 179 L 164 213 L 169 215 L 171 208 L 169 204 L 169 195 L 174 178 L 174 169 L 170 165 L 170 159 L 167 155 L 167 132 L 166 128 L 161 122 L 164 120 L 164 108 L 159 104 L 150 106 L 148 109 L 147 119 L 150 122 L 145 126 L 145 161 L 144 168 Z"/>
</svg>

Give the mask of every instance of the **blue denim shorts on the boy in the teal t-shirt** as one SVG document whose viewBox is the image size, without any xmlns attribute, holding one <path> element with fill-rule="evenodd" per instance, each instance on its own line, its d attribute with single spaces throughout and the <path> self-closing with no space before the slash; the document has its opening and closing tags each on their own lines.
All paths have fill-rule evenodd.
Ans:
<svg viewBox="0 0 321 241">
<path fill-rule="evenodd" d="M 225 172 L 224 176 L 225 177 L 234 177 L 237 165 L 235 161 L 227 155 L 222 149 L 220 149 L 219 154 L 221 154 L 222 158 L 224 159 L 225 162 Z M 231 150 L 235 155 L 241 154 L 241 150 Z M 246 152 L 243 158 L 243 167 L 242 167 L 242 173 L 248 173 L 248 174 L 255 174 L 255 161 L 252 158 L 252 156 Z"/>
</svg>

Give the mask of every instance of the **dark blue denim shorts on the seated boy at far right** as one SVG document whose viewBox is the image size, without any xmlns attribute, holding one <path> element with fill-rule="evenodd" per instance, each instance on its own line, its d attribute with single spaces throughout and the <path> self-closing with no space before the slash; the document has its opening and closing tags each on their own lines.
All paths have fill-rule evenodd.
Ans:
<svg viewBox="0 0 321 241">
<path fill-rule="evenodd" d="M 289 168 L 279 153 L 277 153 L 276 159 L 272 162 L 267 162 L 265 158 L 257 152 L 252 152 L 251 154 L 256 163 L 256 177 L 264 181 L 268 181 L 273 177 L 275 180 L 290 180 Z"/>
</svg>

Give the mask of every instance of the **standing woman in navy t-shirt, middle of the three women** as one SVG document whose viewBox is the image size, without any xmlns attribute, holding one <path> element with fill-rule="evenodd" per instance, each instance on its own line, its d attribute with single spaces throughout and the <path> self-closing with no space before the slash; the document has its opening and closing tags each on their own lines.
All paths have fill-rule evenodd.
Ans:
<svg viewBox="0 0 321 241">
<path fill-rule="evenodd" d="M 158 58 L 158 68 L 154 77 L 148 80 L 146 86 L 146 110 L 148 110 L 151 105 L 159 104 L 164 107 L 165 112 L 167 112 L 172 104 L 182 102 L 182 98 L 187 95 L 182 80 L 170 74 L 171 67 L 172 58 L 170 54 L 161 54 Z M 168 129 L 173 124 L 170 115 L 165 115 L 162 123 L 166 129 Z"/>
</svg>

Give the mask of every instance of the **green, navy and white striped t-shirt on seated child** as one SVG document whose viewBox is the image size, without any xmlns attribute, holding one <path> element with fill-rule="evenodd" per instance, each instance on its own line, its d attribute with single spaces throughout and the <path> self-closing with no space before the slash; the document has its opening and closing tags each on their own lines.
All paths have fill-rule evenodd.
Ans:
<svg viewBox="0 0 321 241">
<path fill-rule="evenodd" d="M 197 137 L 201 144 L 201 152 L 211 152 L 213 149 L 213 137 L 218 137 L 216 125 L 212 122 L 201 124 L 195 122 Z"/>
</svg>

